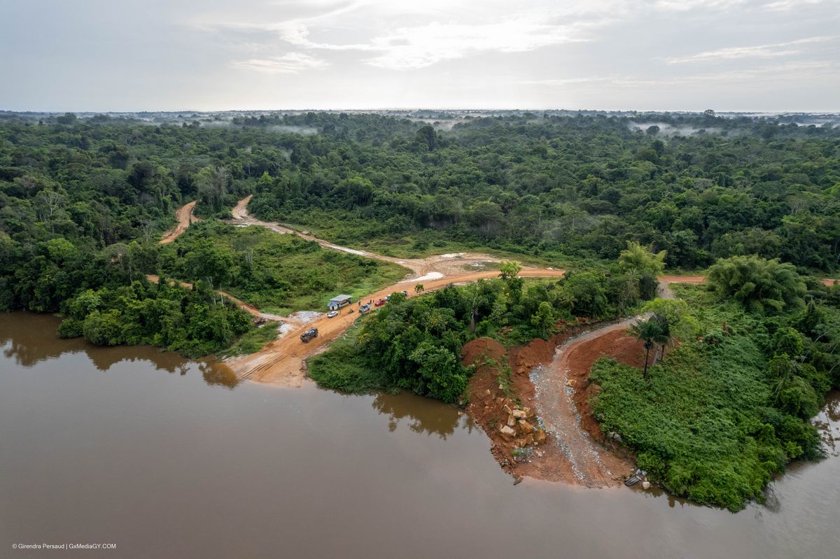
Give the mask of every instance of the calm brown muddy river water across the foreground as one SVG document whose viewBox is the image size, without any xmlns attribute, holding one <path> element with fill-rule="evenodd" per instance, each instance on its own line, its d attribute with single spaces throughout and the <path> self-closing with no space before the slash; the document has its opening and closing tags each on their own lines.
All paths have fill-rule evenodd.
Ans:
<svg viewBox="0 0 840 559">
<path fill-rule="evenodd" d="M 234 386 L 153 348 L 59 340 L 56 323 L 0 315 L 0 557 L 840 556 L 840 447 L 737 515 L 514 486 L 449 406 Z M 818 421 L 840 439 L 837 395 Z"/>
</svg>

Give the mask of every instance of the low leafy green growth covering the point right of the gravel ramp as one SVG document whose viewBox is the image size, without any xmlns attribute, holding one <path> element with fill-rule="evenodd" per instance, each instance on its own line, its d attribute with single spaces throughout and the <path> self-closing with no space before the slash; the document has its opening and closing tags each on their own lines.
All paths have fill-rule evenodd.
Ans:
<svg viewBox="0 0 840 559">
<path fill-rule="evenodd" d="M 591 403 L 601 429 L 620 433 L 665 488 L 735 511 L 761 499 L 791 459 L 818 457 L 819 437 L 772 404 L 763 321 L 696 287 L 680 295 L 702 339 L 683 340 L 647 382 L 638 368 L 600 359 L 591 379 L 601 392 Z"/>
</svg>

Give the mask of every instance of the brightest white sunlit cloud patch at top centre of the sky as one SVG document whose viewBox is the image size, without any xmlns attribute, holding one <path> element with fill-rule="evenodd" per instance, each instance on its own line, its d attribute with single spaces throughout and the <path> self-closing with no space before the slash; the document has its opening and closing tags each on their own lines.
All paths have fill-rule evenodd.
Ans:
<svg viewBox="0 0 840 559">
<path fill-rule="evenodd" d="M 354 51 L 362 55 L 359 60 L 366 65 L 405 70 L 483 52 L 527 52 L 590 40 L 587 31 L 615 21 L 619 9 L 615 0 L 558 8 L 546 4 L 527 11 L 512 10 L 508 3 L 492 0 L 481 7 L 457 0 L 428 0 L 411 3 L 408 8 L 395 3 L 327 2 L 319 3 L 306 15 L 281 21 L 214 22 L 210 18 L 194 25 L 219 32 L 228 40 L 233 38 L 240 45 L 254 44 L 247 39 L 250 35 L 263 40 L 269 51 L 290 46 L 302 52 Z M 336 40 L 337 34 L 346 35 L 348 31 L 356 40 Z M 266 33 L 274 39 L 265 39 Z"/>
</svg>

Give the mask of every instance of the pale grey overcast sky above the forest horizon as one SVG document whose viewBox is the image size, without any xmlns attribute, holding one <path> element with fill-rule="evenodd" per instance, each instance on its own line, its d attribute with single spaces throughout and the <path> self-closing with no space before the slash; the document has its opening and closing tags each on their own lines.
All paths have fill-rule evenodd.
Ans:
<svg viewBox="0 0 840 559">
<path fill-rule="evenodd" d="M 0 109 L 840 112 L 840 0 L 0 0 Z"/>
</svg>

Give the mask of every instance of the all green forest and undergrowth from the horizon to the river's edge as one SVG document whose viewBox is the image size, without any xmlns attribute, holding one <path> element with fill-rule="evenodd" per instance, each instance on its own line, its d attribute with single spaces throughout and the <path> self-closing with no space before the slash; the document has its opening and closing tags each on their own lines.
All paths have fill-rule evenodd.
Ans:
<svg viewBox="0 0 840 559">
<path fill-rule="evenodd" d="M 738 509 L 791 459 L 820 456 L 807 420 L 840 385 L 840 288 L 811 275 L 840 269 L 840 129 L 711 112 L 439 116 L 0 114 L 0 309 L 201 356 L 271 333 L 220 287 L 282 313 L 404 274 L 220 221 L 253 194 L 257 217 L 357 248 L 570 268 L 522 280 L 504 263 L 497 280 L 396 294 L 310 361 L 324 385 L 458 402 L 475 337 L 510 346 L 644 310 L 638 336 L 663 357 L 596 363 L 592 404 L 664 487 Z M 187 201 L 204 221 L 160 245 Z M 709 288 L 654 299 L 665 266 L 711 266 Z"/>
</svg>

